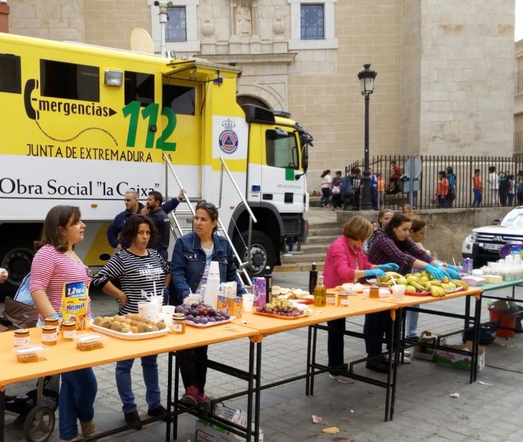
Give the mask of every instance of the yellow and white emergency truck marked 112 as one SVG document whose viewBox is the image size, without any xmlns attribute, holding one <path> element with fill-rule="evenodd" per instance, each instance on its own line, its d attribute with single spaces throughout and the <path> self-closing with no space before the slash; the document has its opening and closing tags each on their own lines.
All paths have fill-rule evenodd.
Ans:
<svg viewBox="0 0 523 442">
<path fill-rule="evenodd" d="M 106 228 L 128 189 L 142 202 L 151 190 L 178 195 L 164 154 L 193 201 L 220 206 L 251 276 L 278 265 L 285 239 L 306 236 L 312 137 L 289 115 L 239 106 L 240 74 L 201 59 L 0 33 L 2 293 L 30 269 L 32 241 L 56 204 L 80 207 L 87 229 L 77 253 L 103 265 L 114 252 Z M 257 220 L 249 252 L 246 204 L 222 180 L 222 160 Z"/>
</svg>

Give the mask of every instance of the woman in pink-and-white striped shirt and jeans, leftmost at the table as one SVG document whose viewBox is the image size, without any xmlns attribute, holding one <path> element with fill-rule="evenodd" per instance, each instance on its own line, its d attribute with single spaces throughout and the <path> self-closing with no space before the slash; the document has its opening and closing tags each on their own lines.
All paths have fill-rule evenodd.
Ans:
<svg viewBox="0 0 523 442">
<path fill-rule="evenodd" d="M 30 291 L 39 311 L 39 325 L 44 318 L 59 318 L 61 293 L 68 282 L 84 282 L 88 288 L 91 274 L 74 251 L 75 244 L 84 240 L 86 225 L 80 220 L 80 210 L 74 206 L 55 206 L 44 221 L 41 238 L 35 242 L 37 253 L 32 260 Z M 87 317 L 91 318 L 91 300 Z M 77 441 L 77 420 L 84 437 L 96 431 L 93 417 L 97 382 L 92 368 L 61 374 L 58 398 L 59 441 Z"/>
</svg>

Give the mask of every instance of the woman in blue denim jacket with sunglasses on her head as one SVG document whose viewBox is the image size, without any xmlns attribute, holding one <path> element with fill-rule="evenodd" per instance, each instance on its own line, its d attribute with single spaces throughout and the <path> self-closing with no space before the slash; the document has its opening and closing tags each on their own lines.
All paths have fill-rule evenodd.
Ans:
<svg viewBox="0 0 523 442">
<path fill-rule="evenodd" d="M 196 205 L 194 231 L 176 241 L 171 260 L 171 302 L 175 305 L 189 303 L 189 294 L 204 294 L 211 261 L 218 261 L 220 282 L 236 281 L 240 296 L 246 293 L 242 287 L 233 252 L 223 236 L 216 235 L 218 209 L 211 202 L 200 201 Z M 207 361 L 207 345 L 184 350 Z M 186 405 L 205 403 L 205 380 L 207 365 L 193 363 L 182 358 L 180 372 L 185 387 L 181 402 Z"/>
</svg>

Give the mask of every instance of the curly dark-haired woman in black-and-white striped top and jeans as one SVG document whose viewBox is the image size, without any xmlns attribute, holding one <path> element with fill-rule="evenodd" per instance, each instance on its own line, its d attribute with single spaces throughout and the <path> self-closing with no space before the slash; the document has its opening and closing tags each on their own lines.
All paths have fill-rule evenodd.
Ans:
<svg viewBox="0 0 523 442">
<path fill-rule="evenodd" d="M 155 243 L 156 235 L 157 231 L 151 218 L 143 215 L 131 216 L 122 231 L 122 237 L 131 246 L 113 255 L 93 278 L 95 287 L 116 298 L 120 306 L 118 314 L 137 313 L 138 302 L 144 300 L 142 290 L 148 294 L 163 295 L 164 287 L 169 285 L 171 276 L 167 262 L 158 251 L 147 248 L 148 244 Z M 114 280 L 120 281 L 122 289 L 111 282 Z M 141 358 L 149 416 L 162 416 L 167 412 L 160 402 L 157 358 L 158 355 Z M 131 385 L 133 363 L 134 359 L 116 363 L 116 386 L 128 425 L 141 422 Z M 135 428 L 140 430 L 142 426 L 135 425 Z"/>
</svg>

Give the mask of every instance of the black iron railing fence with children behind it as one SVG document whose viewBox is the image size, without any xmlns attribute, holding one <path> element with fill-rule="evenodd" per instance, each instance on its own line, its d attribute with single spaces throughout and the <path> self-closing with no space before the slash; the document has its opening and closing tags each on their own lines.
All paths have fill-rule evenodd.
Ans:
<svg viewBox="0 0 523 442">
<path fill-rule="evenodd" d="M 417 160 L 414 160 L 417 159 Z M 397 166 L 397 177 L 393 166 Z M 489 169 L 495 169 L 494 174 Z M 455 183 L 452 195 L 437 198 L 438 174 L 452 169 Z M 345 175 L 359 169 L 363 162 L 356 161 L 345 167 Z M 383 195 L 384 207 L 398 210 L 403 204 L 416 209 L 439 207 L 472 207 L 474 202 L 473 177 L 479 169 L 482 182 L 482 201 L 479 206 L 516 206 L 523 204 L 523 194 L 518 195 L 518 172 L 523 171 L 523 157 L 488 157 L 466 155 L 379 155 L 370 160 L 374 175 L 381 173 L 386 182 Z M 511 191 L 500 176 L 511 178 Z M 521 198 L 518 198 L 518 196 Z"/>
</svg>

